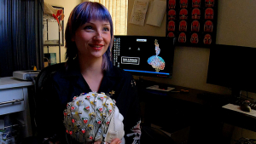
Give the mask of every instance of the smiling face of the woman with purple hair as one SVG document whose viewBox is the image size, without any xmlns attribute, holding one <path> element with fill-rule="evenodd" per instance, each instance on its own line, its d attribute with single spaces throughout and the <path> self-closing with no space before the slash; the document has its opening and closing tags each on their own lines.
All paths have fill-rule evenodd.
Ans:
<svg viewBox="0 0 256 144">
<path fill-rule="evenodd" d="M 90 20 L 79 26 L 72 39 L 84 58 L 102 58 L 111 41 L 110 24 L 105 20 Z"/>
</svg>

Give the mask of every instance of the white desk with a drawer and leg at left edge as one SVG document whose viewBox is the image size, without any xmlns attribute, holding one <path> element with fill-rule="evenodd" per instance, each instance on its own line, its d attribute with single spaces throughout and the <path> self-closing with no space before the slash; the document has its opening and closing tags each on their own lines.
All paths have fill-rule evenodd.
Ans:
<svg viewBox="0 0 256 144">
<path fill-rule="evenodd" d="M 27 87 L 30 81 L 16 78 L 0 78 L 0 115 L 19 112 L 23 120 L 25 136 L 32 135 Z"/>
</svg>

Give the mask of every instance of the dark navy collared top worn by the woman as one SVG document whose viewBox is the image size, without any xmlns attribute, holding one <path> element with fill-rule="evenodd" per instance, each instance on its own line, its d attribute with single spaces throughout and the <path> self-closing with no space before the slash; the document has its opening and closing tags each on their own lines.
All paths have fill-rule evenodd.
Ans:
<svg viewBox="0 0 256 144">
<path fill-rule="evenodd" d="M 109 71 L 104 72 L 102 84 L 98 93 L 109 94 L 116 101 L 119 112 L 124 116 L 125 143 L 132 143 L 140 137 L 140 107 L 137 95 L 137 87 L 132 75 L 122 69 L 110 64 Z M 67 102 L 73 101 L 74 96 L 88 93 L 91 89 L 84 80 L 80 70 L 79 62 L 73 60 L 68 66 L 50 74 L 44 83 L 41 93 L 37 96 L 37 125 L 40 137 L 52 137 L 61 143 L 73 141 L 66 135 L 63 124 L 63 111 L 67 108 Z M 127 134 L 130 134 L 127 137 Z M 135 141 L 139 143 L 139 141 Z M 78 143 L 73 141 L 73 143 Z"/>
</svg>

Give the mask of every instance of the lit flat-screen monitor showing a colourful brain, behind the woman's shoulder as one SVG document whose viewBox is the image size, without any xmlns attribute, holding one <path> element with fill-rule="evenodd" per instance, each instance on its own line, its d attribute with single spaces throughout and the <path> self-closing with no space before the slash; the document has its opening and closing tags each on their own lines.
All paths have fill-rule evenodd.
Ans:
<svg viewBox="0 0 256 144">
<path fill-rule="evenodd" d="M 136 76 L 172 78 L 174 38 L 114 36 L 113 65 Z"/>
</svg>

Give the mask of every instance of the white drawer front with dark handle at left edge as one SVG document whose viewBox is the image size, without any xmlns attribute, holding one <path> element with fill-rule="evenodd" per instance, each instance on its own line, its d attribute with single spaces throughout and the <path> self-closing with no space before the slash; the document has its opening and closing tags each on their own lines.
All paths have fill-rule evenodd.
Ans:
<svg viewBox="0 0 256 144">
<path fill-rule="evenodd" d="M 24 110 L 23 89 L 0 89 L 0 115 Z"/>
</svg>

